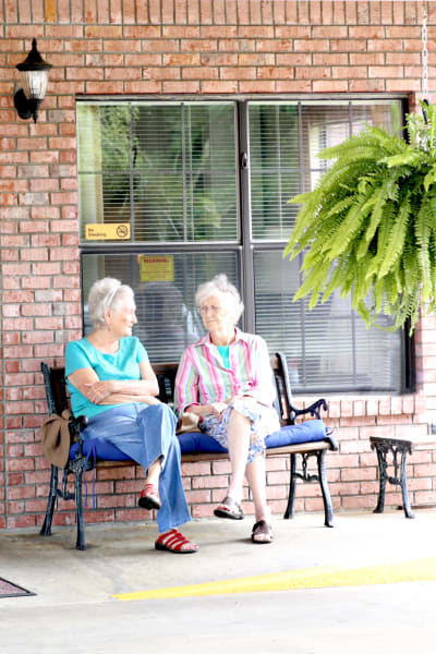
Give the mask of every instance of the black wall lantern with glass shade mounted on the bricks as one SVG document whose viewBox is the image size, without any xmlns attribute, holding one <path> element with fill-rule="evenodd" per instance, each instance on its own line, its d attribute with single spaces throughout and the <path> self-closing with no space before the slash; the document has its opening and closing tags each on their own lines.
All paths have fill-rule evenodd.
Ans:
<svg viewBox="0 0 436 654">
<path fill-rule="evenodd" d="M 48 71 L 51 63 L 44 61 L 36 48 L 36 39 L 32 41 L 32 50 L 27 58 L 16 65 L 22 74 L 23 88 L 14 95 L 15 109 L 20 118 L 27 120 L 31 116 L 34 122 L 38 119 L 39 105 L 44 100 L 48 84 Z"/>
</svg>

